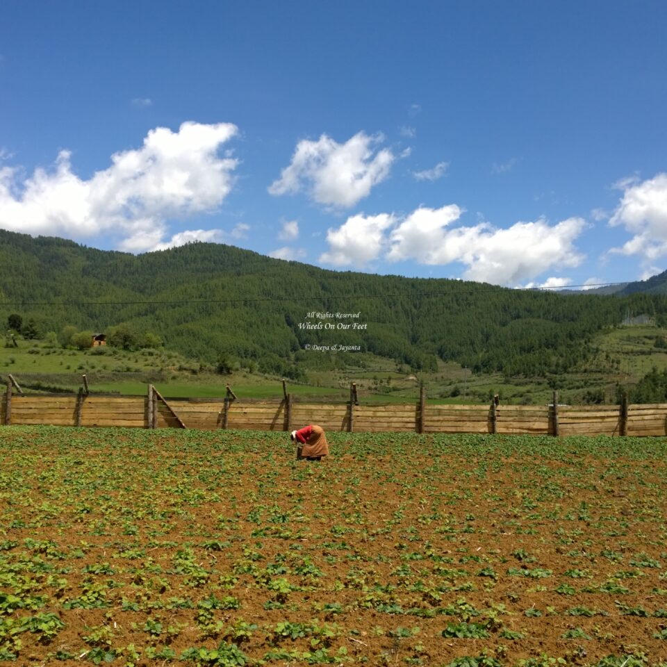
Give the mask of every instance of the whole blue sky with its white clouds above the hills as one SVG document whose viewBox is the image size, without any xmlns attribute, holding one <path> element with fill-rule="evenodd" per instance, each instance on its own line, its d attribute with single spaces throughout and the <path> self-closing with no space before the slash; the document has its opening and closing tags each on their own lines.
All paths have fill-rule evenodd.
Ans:
<svg viewBox="0 0 667 667">
<path fill-rule="evenodd" d="M 507 286 L 667 268 L 664 1 L 0 3 L 0 227 Z"/>
</svg>

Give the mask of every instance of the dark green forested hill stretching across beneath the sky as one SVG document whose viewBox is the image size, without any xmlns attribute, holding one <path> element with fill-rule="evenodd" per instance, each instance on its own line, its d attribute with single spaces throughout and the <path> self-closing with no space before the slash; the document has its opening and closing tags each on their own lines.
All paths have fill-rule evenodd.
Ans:
<svg viewBox="0 0 667 667">
<path fill-rule="evenodd" d="M 628 311 L 667 321 L 664 295 L 561 296 L 335 272 L 212 243 L 135 256 L 8 231 L 0 231 L 0 303 L 4 322 L 18 313 L 42 334 L 127 322 L 194 359 L 215 363 L 229 354 L 292 376 L 302 365 L 345 361 L 306 351 L 317 344 L 359 346 L 415 370 L 433 368 L 439 357 L 476 372 L 563 372 Z M 367 327 L 299 328 L 318 322 L 307 318 L 311 311 L 359 312 Z"/>
</svg>

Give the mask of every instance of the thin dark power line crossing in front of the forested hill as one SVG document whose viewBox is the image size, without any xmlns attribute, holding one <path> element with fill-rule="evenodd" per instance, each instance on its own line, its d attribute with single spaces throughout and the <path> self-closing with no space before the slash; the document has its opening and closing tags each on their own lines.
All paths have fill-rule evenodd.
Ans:
<svg viewBox="0 0 667 667">
<path fill-rule="evenodd" d="M 664 282 L 665 279 L 653 281 Z M 584 283 L 582 285 L 568 285 L 568 286 L 541 286 L 541 287 L 517 287 L 509 288 L 502 286 L 493 286 L 491 288 L 471 288 L 468 290 L 438 290 L 436 292 L 398 292 L 398 293 L 384 293 L 384 294 L 346 294 L 346 295 L 311 295 L 307 297 L 265 297 L 265 298 L 238 298 L 238 299 L 174 299 L 172 301 L 63 301 L 63 302 L 31 302 L 31 301 L 15 301 L 15 302 L 0 302 L 0 306 L 175 306 L 179 304 L 242 304 L 242 303 L 267 303 L 267 302 L 295 302 L 295 301 L 310 301 L 312 299 L 336 300 L 336 299 L 387 299 L 394 297 L 435 297 L 445 295 L 459 295 L 459 294 L 488 294 L 494 292 L 514 290 L 517 292 L 543 292 L 552 290 L 566 290 L 571 291 L 576 288 L 582 288 L 583 293 L 589 289 L 598 287 L 614 287 L 616 285 L 628 285 L 627 281 L 616 283 Z"/>
</svg>

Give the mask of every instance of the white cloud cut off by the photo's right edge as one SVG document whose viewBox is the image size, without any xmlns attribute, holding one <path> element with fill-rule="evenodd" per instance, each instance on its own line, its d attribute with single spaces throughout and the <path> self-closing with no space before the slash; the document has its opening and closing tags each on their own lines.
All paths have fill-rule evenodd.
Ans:
<svg viewBox="0 0 667 667">
<path fill-rule="evenodd" d="M 645 262 L 667 255 L 667 174 L 657 174 L 647 181 L 636 177 L 617 184 L 623 190 L 611 227 L 623 226 L 632 238 L 623 247 L 610 252 L 641 255 Z"/>
</svg>

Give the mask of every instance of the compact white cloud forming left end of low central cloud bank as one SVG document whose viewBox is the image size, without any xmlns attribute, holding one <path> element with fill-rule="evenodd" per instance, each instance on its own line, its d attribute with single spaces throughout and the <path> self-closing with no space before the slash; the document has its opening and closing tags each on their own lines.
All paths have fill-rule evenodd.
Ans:
<svg viewBox="0 0 667 667">
<path fill-rule="evenodd" d="M 379 257 L 386 247 L 384 232 L 395 223 L 393 215 L 353 215 L 338 229 L 327 231 L 330 250 L 320 262 L 336 266 L 362 267 Z"/>
</svg>

